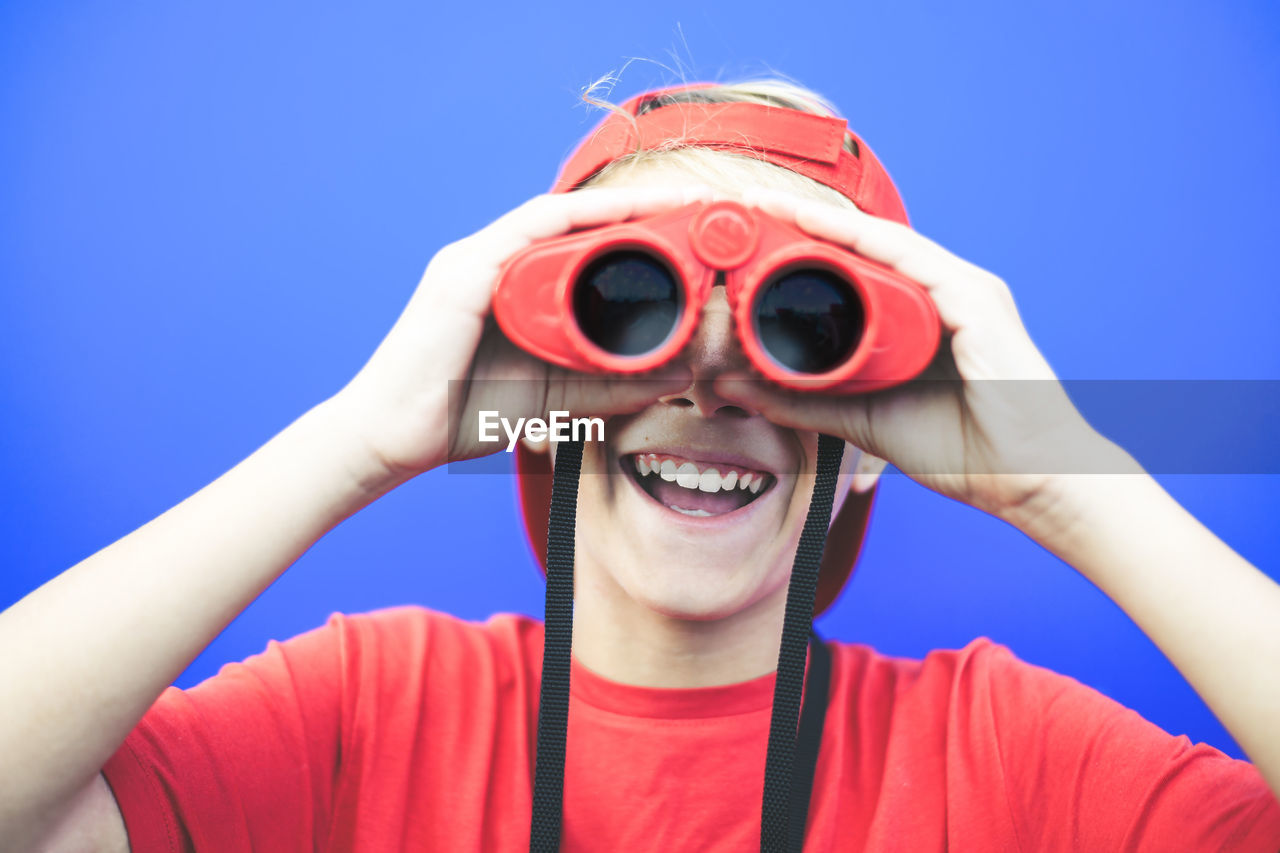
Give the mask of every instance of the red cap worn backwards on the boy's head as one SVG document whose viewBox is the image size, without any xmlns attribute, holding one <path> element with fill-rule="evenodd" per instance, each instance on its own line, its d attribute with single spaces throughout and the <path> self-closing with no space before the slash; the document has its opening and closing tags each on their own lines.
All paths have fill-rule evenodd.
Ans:
<svg viewBox="0 0 1280 853">
<path fill-rule="evenodd" d="M 627 115 L 611 114 L 588 134 L 561 168 L 552 192 L 576 190 L 609 163 L 637 151 L 686 145 L 772 163 L 836 190 L 869 214 L 909 224 L 906 209 L 884 167 L 849 129 L 845 119 L 741 101 L 667 102 L 636 115 L 641 105 L 653 99 L 717 87 L 717 83 L 692 83 L 644 92 L 626 101 L 622 109 Z M 858 154 L 845 147 L 846 136 L 852 138 Z M 516 474 L 525 532 L 545 573 L 547 523 L 552 506 L 550 457 L 517 446 Z M 849 580 L 861 551 L 874 496 L 874 489 L 850 492 L 832 521 L 818 574 L 814 615 L 827 610 Z"/>
</svg>

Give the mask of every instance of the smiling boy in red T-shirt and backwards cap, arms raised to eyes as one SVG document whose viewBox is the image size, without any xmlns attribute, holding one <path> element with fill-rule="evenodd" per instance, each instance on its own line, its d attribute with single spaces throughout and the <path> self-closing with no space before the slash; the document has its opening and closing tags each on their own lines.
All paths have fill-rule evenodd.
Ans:
<svg viewBox="0 0 1280 853">
<path fill-rule="evenodd" d="M 823 113 L 768 83 L 625 109 L 639 124 L 718 101 L 769 105 L 780 120 Z M 490 452 L 472 441 L 475 412 L 563 409 L 608 416 L 605 441 L 584 447 L 576 512 L 564 849 L 759 844 L 773 671 L 819 433 L 847 444 L 837 519 L 865 503 L 887 460 L 1014 524 L 1134 617 L 1261 775 L 989 643 L 923 662 L 832 643 L 805 849 L 1274 849 L 1280 644 L 1267 638 L 1280 588 L 1089 429 L 1007 287 L 902 225 L 891 184 L 868 178 L 879 179 L 869 149 L 837 141 L 822 172 L 787 160 L 786 141 L 668 136 L 443 248 L 338 394 L 6 611 L 0 643 L 29 653 L 3 663 L 4 707 L 18 713 L 0 724 L 0 748 L 35 772 L 9 775 L 0 836 L 17 849 L 525 847 L 543 663 L 534 620 L 334 617 L 151 706 L 334 524 L 421 471 Z M 759 382 L 723 287 L 643 383 L 577 382 L 488 323 L 499 268 L 525 246 L 712 195 L 918 282 L 956 380 L 874 396 Z M 522 379 L 529 400 L 486 400 L 489 378 Z M 1048 393 L 1029 406 L 1001 380 Z M 475 389 L 461 407 L 451 382 Z M 1129 474 L 1057 475 L 1046 447 Z M 691 466 L 699 488 L 667 479 L 668 462 Z M 722 487 L 730 474 L 750 479 L 746 494 L 698 494 L 710 493 L 704 476 Z"/>
</svg>

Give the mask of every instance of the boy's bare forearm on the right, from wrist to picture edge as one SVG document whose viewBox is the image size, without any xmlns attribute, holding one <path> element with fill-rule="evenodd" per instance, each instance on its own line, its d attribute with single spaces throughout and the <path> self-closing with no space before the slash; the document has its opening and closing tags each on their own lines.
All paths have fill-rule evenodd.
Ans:
<svg viewBox="0 0 1280 853">
<path fill-rule="evenodd" d="M 1121 462 L 1055 480 L 1015 524 L 1142 628 L 1280 797 L 1280 585 Z"/>
</svg>

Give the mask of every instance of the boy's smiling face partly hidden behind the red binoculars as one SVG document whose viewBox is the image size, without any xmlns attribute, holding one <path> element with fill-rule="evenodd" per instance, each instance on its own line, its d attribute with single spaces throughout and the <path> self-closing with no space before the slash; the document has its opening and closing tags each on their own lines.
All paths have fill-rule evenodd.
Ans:
<svg viewBox="0 0 1280 853">
<path fill-rule="evenodd" d="M 637 172 L 611 184 L 690 181 L 678 170 Z M 818 435 L 778 426 L 716 393 L 717 377 L 749 368 L 723 287 L 713 288 L 678 359 L 692 374 L 687 388 L 608 419 L 605 441 L 584 444 L 576 598 L 618 619 L 635 607 L 681 620 L 776 607 L 781 619 Z M 846 446 L 833 514 L 860 455 Z"/>
</svg>

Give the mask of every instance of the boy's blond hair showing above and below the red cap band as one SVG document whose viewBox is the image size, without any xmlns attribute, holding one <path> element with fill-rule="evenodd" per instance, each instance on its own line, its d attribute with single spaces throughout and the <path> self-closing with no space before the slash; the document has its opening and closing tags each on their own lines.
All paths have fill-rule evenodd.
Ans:
<svg viewBox="0 0 1280 853">
<path fill-rule="evenodd" d="M 625 115 L 635 120 L 616 104 L 596 97 L 593 92 L 612 78 L 603 78 L 582 93 L 582 100 L 595 106 Z M 680 92 L 666 92 L 640 104 L 637 115 L 669 104 L 765 104 L 803 110 L 815 115 L 835 115 L 838 111 L 822 95 L 796 83 L 778 78 L 759 78 L 739 83 L 719 83 L 707 88 L 694 88 Z M 845 149 L 856 155 L 858 145 L 851 136 L 845 136 Z M 623 175 L 645 170 L 653 165 L 675 167 L 690 175 L 696 175 L 701 183 L 708 183 L 723 192 L 736 193 L 742 187 L 755 186 L 782 190 L 852 207 L 854 202 L 831 187 L 818 183 L 803 174 L 791 172 L 772 163 L 759 160 L 746 154 L 735 154 L 709 147 L 689 145 L 682 140 L 672 140 L 658 149 L 636 151 L 608 164 L 582 186 L 599 186 Z"/>
</svg>

